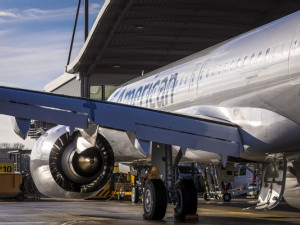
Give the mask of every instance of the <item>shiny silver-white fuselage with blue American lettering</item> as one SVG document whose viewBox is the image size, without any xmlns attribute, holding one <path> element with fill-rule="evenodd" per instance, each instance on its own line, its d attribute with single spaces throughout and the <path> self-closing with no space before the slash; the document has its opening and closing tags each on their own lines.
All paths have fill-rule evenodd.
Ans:
<svg viewBox="0 0 300 225">
<path fill-rule="evenodd" d="M 298 151 L 299 24 L 297 12 L 249 31 L 193 55 L 188 62 L 130 81 L 109 101 L 236 123 L 245 149 L 242 157 Z M 102 131 L 110 143 L 116 138 L 111 131 Z M 114 135 L 126 136 L 121 133 Z M 114 151 L 128 148 L 136 157 L 125 139 Z M 218 158 L 191 149 L 186 158 L 199 161 L 204 155 Z"/>
</svg>

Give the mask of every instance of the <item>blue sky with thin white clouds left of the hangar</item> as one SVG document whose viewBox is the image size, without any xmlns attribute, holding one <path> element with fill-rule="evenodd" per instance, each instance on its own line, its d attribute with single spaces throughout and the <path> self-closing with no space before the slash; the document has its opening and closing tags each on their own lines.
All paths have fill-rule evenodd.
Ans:
<svg viewBox="0 0 300 225">
<path fill-rule="evenodd" d="M 104 0 L 89 0 L 92 27 Z M 64 72 L 77 0 L 0 0 L 0 85 L 43 90 Z M 82 0 L 83 6 L 83 0 Z M 72 58 L 83 45 L 81 7 Z M 0 143 L 22 142 L 0 116 Z M 27 147 L 33 141 L 26 140 Z"/>
</svg>

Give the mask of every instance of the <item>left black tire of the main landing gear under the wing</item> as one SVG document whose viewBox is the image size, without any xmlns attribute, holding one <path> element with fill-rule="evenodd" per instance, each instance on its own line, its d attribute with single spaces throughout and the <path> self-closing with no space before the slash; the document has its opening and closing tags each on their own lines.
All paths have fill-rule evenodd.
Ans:
<svg viewBox="0 0 300 225">
<path fill-rule="evenodd" d="M 160 179 L 148 180 L 143 193 L 144 219 L 161 220 L 167 209 L 167 191 Z"/>
</svg>

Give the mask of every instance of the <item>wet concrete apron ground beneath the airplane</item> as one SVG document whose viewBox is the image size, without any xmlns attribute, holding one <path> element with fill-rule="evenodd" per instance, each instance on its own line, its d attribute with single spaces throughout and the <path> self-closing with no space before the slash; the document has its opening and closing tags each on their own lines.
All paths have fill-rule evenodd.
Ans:
<svg viewBox="0 0 300 225">
<path fill-rule="evenodd" d="M 199 220 L 186 221 L 186 224 L 202 225 L 270 225 L 300 224 L 300 210 L 282 202 L 271 211 L 242 211 L 252 206 L 254 200 L 232 199 L 229 203 L 222 200 L 198 200 Z M 173 218 L 173 208 L 168 206 L 162 221 L 145 221 L 142 218 L 142 204 L 129 200 L 80 200 L 62 201 L 42 199 L 23 202 L 0 200 L 0 225 L 81 225 L 81 224 L 183 224 Z"/>
</svg>

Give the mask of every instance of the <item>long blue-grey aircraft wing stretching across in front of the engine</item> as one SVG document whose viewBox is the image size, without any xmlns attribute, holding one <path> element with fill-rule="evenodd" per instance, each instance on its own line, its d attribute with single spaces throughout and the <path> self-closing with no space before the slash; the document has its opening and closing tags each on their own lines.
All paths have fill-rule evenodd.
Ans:
<svg viewBox="0 0 300 225">
<path fill-rule="evenodd" d="M 0 87 L 0 113 L 16 117 L 20 131 L 30 120 L 87 129 L 89 123 L 135 135 L 141 146 L 157 142 L 238 157 L 239 127 L 208 117 L 193 117 L 119 103 Z"/>
</svg>

